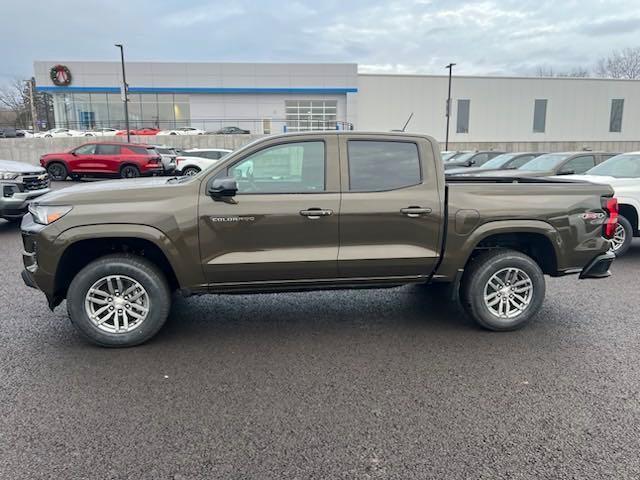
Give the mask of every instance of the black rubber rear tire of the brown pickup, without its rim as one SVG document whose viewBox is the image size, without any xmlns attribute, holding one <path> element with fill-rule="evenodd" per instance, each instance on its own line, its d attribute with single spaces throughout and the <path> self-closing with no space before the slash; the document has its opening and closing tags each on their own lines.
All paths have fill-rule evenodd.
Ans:
<svg viewBox="0 0 640 480">
<path fill-rule="evenodd" d="M 520 313 L 513 318 L 501 318 L 499 312 L 491 310 L 485 302 L 485 288 L 494 274 L 508 268 L 524 272 L 531 280 L 532 291 L 528 303 Z M 512 296 L 508 295 L 509 298 Z M 523 327 L 538 312 L 544 297 L 545 280 L 540 266 L 531 257 L 507 249 L 490 250 L 474 258 L 465 270 L 460 288 L 460 301 L 467 314 L 480 326 L 496 332 Z M 510 302 L 508 298 L 500 298 L 499 301 Z"/>
</svg>

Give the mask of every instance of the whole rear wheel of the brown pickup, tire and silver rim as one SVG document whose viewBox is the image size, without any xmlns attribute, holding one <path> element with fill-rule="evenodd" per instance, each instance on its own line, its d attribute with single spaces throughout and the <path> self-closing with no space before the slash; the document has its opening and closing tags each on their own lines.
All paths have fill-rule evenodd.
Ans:
<svg viewBox="0 0 640 480">
<path fill-rule="evenodd" d="M 471 261 L 462 278 L 460 300 L 479 325 L 516 330 L 537 313 L 545 297 L 540 266 L 515 250 L 490 250 Z"/>
</svg>

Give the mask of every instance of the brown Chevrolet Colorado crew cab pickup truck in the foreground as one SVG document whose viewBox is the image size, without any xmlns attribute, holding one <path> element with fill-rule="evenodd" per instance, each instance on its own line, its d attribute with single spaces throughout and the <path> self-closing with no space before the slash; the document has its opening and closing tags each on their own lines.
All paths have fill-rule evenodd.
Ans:
<svg viewBox="0 0 640 480">
<path fill-rule="evenodd" d="M 491 330 L 527 323 L 544 275 L 609 275 L 616 200 L 584 181 L 445 182 L 438 143 L 403 133 L 266 137 L 192 177 L 73 186 L 22 222 L 25 283 L 89 340 L 158 332 L 172 292 L 448 283 Z"/>
</svg>

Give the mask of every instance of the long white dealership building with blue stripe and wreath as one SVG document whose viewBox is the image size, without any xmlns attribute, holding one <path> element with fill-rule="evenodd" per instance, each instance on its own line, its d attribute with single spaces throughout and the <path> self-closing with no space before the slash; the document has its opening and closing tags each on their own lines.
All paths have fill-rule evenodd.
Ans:
<svg viewBox="0 0 640 480">
<path fill-rule="evenodd" d="M 36 61 L 57 127 L 124 127 L 119 62 Z M 354 63 L 127 62 L 132 127 L 252 133 L 397 130 L 444 141 L 445 75 L 363 74 Z M 450 141 L 636 142 L 640 81 L 455 76 Z"/>
</svg>

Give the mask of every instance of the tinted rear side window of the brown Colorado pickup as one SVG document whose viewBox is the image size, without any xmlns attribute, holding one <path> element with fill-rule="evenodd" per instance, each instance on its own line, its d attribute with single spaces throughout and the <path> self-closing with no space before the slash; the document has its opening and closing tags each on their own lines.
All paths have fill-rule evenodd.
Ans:
<svg viewBox="0 0 640 480">
<path fill-rule="evenodd" d="M 352 192 L 396 190 L 422 182 L 415 143 L 350 140 L 347 149 Z"/>
</svg>

